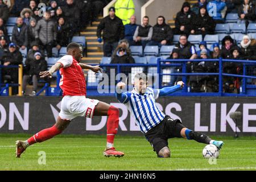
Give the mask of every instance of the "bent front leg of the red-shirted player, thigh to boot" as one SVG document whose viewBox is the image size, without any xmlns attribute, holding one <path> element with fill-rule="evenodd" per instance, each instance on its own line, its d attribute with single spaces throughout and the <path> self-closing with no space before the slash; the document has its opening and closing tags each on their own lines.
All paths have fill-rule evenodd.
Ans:
<svg viewBox="0 0 256 182">
<path fill-rule="evenodd" d="M 117 134 L 119 123 L 119 109 L 117 107 L 106 104 L 105 102 L 98 102 L 94 108 L 93 115 L 108 115 L 107 121 L 107 144 L 104 151 L 105 156 L 123 156 L 123 152 L 115 151 L 114 138 Z"/>
</svg>

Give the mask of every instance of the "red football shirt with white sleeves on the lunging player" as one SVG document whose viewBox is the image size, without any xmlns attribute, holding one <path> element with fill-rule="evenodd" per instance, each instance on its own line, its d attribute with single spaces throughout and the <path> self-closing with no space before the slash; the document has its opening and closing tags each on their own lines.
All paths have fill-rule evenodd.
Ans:
<svg viewBox="0 0 256 182">
<path fill-rule="evenodd" d="M 57 63 L 63 65 L 63 68 L 60 68 L 60 88 L 63 90 L 63 96 L 86 96 L 84 72 L 77 60 L 71 55 L 66 55 Z"/>
</svg>

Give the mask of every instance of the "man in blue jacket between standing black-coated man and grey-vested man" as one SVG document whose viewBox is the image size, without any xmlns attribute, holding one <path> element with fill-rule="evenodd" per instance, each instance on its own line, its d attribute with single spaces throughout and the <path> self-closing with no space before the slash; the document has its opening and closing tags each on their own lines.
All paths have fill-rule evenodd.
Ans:
<svg viewBox="0 0 256 182">
<path fill-rule="evenodd" d="M 130 23 L 125 25 L 125 39 L 129 41 L 130 46 L 133 46 L 133 36 L 138 24 L 136 24 L 136 16 L 133 15 L 130 18 Z"/>
</svg>

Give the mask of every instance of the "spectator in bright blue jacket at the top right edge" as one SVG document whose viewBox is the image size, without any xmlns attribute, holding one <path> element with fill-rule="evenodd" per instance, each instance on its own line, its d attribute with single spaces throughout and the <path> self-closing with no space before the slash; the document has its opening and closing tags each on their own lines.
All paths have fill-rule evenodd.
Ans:
<svg viewBox="0 0 256 182">
<path fill-rule="evenodd" d="M 224 23 L 226 3 L 221 0 L 208 2 L 207 11 L 212 16 L 215 23 Z"/>
</svg>

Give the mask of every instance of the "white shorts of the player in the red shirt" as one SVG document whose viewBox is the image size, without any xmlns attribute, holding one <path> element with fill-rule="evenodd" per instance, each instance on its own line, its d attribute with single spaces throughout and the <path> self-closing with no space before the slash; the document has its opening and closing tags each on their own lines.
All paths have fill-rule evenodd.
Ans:
<svg viewBox="0 0 256 182">
<path fill-rule="evenodd" d="M 61 100 L 59 117 L 68 120 L 78 116 L 92 118 L 98 102 L 85 96 L 64 96 Z"/>
</svg>

